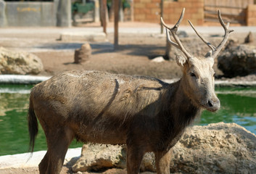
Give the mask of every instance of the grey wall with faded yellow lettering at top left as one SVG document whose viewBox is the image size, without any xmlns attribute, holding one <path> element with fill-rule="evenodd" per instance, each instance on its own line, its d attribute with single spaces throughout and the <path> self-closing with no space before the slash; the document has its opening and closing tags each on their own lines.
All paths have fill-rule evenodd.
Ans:
<svg viewBox="0 0 256 174">
<path fill-rule="evenodd" d="M 7 1 L 0 3 L 0 27 L 71 26 L 71 1 Z"/>
</svg>

